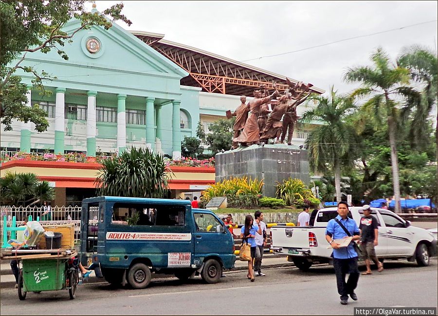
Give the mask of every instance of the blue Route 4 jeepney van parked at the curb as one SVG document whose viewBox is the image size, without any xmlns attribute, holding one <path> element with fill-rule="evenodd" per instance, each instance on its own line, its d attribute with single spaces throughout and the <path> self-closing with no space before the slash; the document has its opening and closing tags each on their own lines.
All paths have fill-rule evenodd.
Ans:
<svg viewBox="0 0 438 316">
<path fill-rule="evenodd" d="M 145 288 L 151 273 L 216 283 L 234 267 L 225 224 L 188 200 L 99 196 L 84 199 L 81 213 L 81 262 L 92 258 L 111 284 Z"/>
</svg>

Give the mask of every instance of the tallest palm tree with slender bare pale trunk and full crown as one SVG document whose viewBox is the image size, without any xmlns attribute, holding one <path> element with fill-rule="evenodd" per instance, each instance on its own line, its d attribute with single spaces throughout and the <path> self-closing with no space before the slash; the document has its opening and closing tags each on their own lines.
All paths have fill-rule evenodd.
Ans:
<svg viewBox="0 0 438 316">
<path fill-rule="evenodd" d="M 388 124 L 389 146 L 391 149 L 392 181 L 395 197 L 395 211 L 402 211 L 400 205 L 399 162 L 397 157 L 397 125 L 401 122 L 401 109 L 397 98 L 415 100 L 419 92 L 409 86 L 408 69 L 391 64 L 388 55 L 382 48 L 370 56 L 373 67 L 360 66 L 349 68 L 344 76 L 347 82 L 360 82 L 362 87 L 354 90 L 352 97 L 370 99 L 362 105 L 365 112 L 372 114 L 374 122 L 379 125 L 383 120 Z M 405 108 L 413 106 L 405 104 Z"/>
</svg>

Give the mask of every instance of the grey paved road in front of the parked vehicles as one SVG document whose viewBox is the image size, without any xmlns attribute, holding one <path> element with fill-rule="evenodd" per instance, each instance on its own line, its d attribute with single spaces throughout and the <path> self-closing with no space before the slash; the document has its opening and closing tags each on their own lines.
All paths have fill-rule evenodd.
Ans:
<svg viewBox="0 0 438 316">
<path fill-rule="evenodd" d="M 360 268 L 364 270 L 364 266 Z M 407 261 L 385 262 L 382 273 L 361 276 L 359 300 L 339 303 L 333 268 L 315 266 L 267 269 L 255 282 L 245 271 L 228 272 L 218 284 L 201 279 L 156 279 L 144 290 L 84 284 L 76 299 L 66 290 L 29 293 L 19 301 L 16 290 L 1 289 L 1 315 L 237 315 L 243 299 L 256 303 L 259 315 L 352 315 L 353 307 L 437 307 L 437 258 L 428 267 Z M 251 306 L 251 305 L 250 305 Z M 252 305 L 255 306 L 255 305 Z M 251 310 L 251 307 L 250 307 Z"/>
</svg>

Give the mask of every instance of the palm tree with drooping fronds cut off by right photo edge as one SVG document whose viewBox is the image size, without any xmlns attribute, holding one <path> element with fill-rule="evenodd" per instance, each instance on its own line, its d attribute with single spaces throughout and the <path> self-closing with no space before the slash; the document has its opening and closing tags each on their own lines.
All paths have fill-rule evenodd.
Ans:
<svg viewBox="0 0 438 316">
<path fill-rule="evenodd" d="M 424 143 L 427 137 L 426 122 L 432 107 L 438 99 L 438 59 L 437 54 L 427 48 L 417 45 L 405 48 L 397 60 L 400 67 L 408 68 L 411 71 L 412 80 L 420 85 L 424 85 L 421 93 L 420 102 L 417 104 L 411 125 L 410 135 Z M 436 139 L 438 143 L 438 116 L 436 117 Z M 438 159 L 438 147 L 437 147 Z"/>
</svg>

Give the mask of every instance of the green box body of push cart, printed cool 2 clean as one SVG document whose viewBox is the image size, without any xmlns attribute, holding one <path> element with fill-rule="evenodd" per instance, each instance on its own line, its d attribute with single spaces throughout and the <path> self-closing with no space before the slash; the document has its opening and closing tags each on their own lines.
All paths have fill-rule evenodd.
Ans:
<svg viewBox="0 0 438 316">
<path fill-rule="evenodd" d="M 61 290 L 65 287 L 67 260 L 23 260 L 23 291 Z"/>
</svg>

